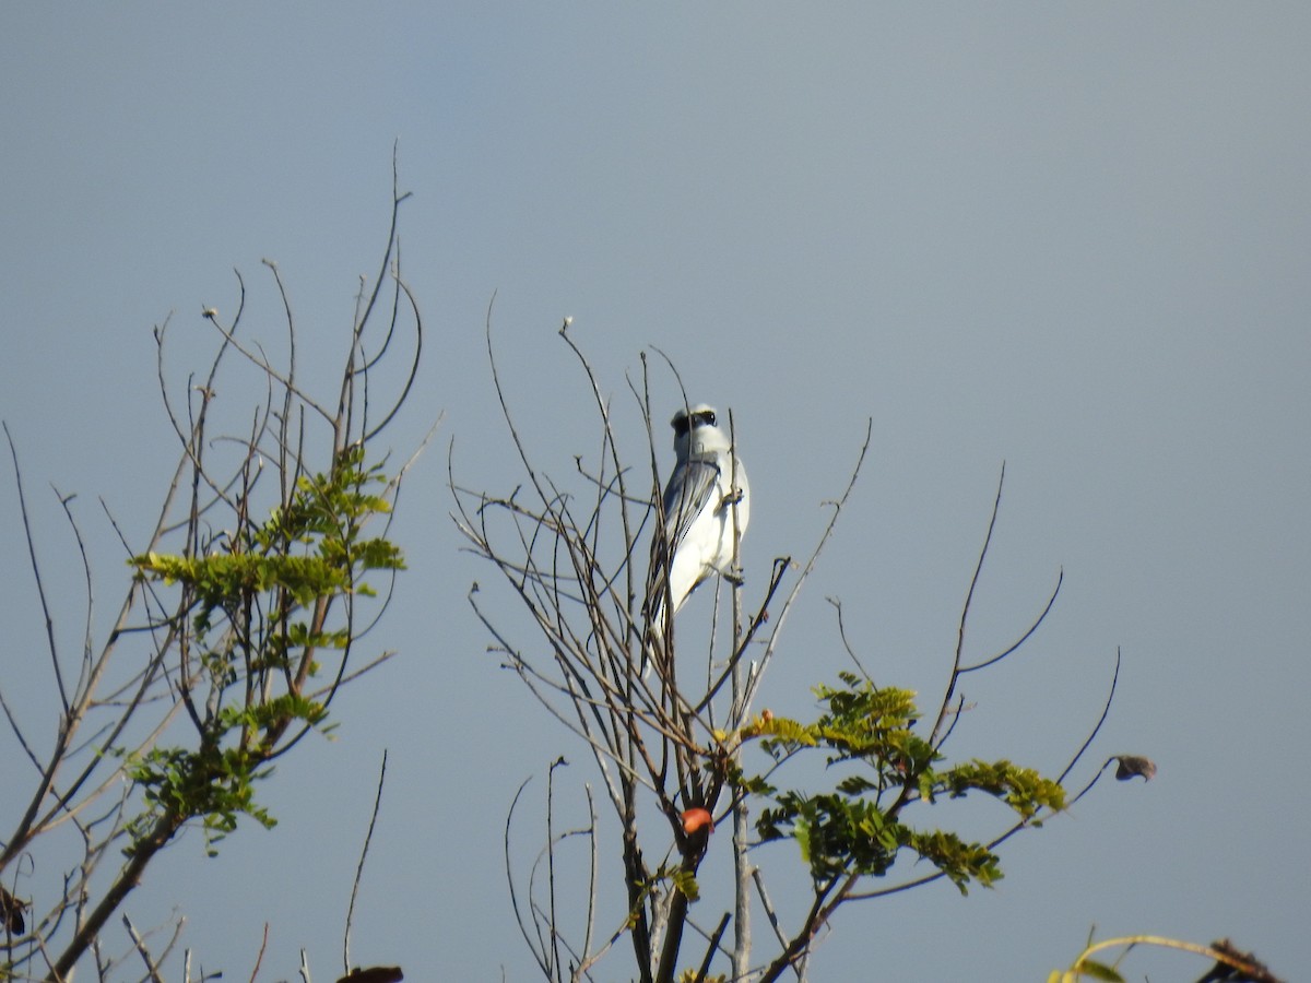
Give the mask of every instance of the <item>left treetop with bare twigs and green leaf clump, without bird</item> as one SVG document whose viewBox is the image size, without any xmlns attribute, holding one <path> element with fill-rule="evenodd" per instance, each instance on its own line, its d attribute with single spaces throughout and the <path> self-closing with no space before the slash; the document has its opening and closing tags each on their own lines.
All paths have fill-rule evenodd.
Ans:
<svg viewBox="0 0 1311 983">
<path fill-rule="evenodd" d="M 214 347 L 199 372 L 181 374 L 185 387 L 169 367 L 172 318 L 155 329 L 160 393 L 180 453 L 143 541 L 130 545 L 105 507 L 132 574 L 98 649 L 94 581 L 73 497 L 60 495 L 60 507 L 88 596 L 84 645 L 68 655 L 54 630 L 58 612 L 5 429 L 58 716 L 55 739 L 41 751 L 24 718 L 31 704 L 16 708 L 0 691 L 14 747 L 35 775 L 26 800 L 13 782 L 0 802 L 0 822 L 14 820 L 0 839 L 0 873 L 24 860 L 31 868 L 31 900 L 7 910 L 0 975 L 63 980 L 93 952 L 108 978 L 102 931 L 160 851 L 191 823 L 205 830 L 210 852 L 241 817 L 271 826 L 258 782 L 308 733 L 329 733 L 338 688 L 388 658 L 353 666 L 357 642 L 387 611 L 404 569 L 389 527 L 414 459 L 389 465 L 378 444 L 410 392 L 422 350 L 422 318 L 400 275 L 396 229 L 406 198 L 393 183 L 382 266 L 371 286 L 362 280 L 329 398 L 312 396 L 317 387 L 300 375 L 296 318 L 275 263 L 265 266 L 284 315 L 282 359 L 269 354 L 274 341 L 245 337 L 240 273 L 229 318 L 202 308 Z M 225 392 L 241 392 L 243 372 L 253 408 L 218 395 L 220 380 Z M 38 857 L 58 856 L 60 835 L 81 861 L 50 870 Z M 51 847 L 37 852 L 38 841 Z M 104 872 L 115 853 L 122 866 Z M 7 889 L 5 896 L 14 895 Z M 143 937 L 128 931 L 146 958 Z M 149 958 L 147 965 L 157 976 Z"/>
</svg>

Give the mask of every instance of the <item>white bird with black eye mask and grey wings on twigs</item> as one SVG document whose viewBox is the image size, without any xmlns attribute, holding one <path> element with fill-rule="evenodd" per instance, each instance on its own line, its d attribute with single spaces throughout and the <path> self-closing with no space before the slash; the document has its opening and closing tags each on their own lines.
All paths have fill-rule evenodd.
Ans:
<svg viewBox="0 0 1311 983">
<path fill-rule="evenodd" d="M 742 582 L 734 553 L 751 518 L 746 467 L 718 426 L 714 408 L 699 402 L 679 409 L 670 426 L 674 471 L 652 537 L 646 587 L 646 613 L 656 641 L 663 640 L 667 620 L 711 575 Z M 645 663 L 645 649 L 642 655 Z"/>
</svg>

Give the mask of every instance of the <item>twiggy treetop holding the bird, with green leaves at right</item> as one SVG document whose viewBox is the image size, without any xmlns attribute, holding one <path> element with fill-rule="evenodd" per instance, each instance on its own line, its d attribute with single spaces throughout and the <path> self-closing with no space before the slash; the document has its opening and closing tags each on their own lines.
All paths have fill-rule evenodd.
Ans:
<svg viewBox="0 0 1311 983">
<path fill-rule="evenodd" d="M 573 459 L 573 473 L 558 476 L 543 467 L 524 443 L 513 393 L 501 380 L 490 309 L 486 334 L 492 379 L 522 465 L 522 482 L 501 493 L 459 482 L 452 446 L 454 519 L 469 550 L 488 561 L 518 598 L 528 615 L 530 640 L 513 637 L 507 623 L 484 600 L 479 583 L 468 599 L 490 636 L 489 651 L 590 751 L 619 824 L 627 902 L 611 933 L 597 936 L 598 824 L 590 786 L 590 822 L 574 831 L 586 836 L 593 849 L 585 904 L 572 906 L 586 912 L 581 932 L 569 928 L 564 912 L 570 906 L 558 904 L 557 858 L 562 857 L 566 838 L 555 831 L 555 793 L 547 797 L 547 838 L 526 886 L 513 873 L 507 820 L 511 900 L 523 937 L 547 979 L 590 979 L 597 962 L 624 936 L 642 983 L 708 978 L 712 962 L 721 955 L 732 962 L 730 975 L 735 979 L 773 980 L 789 971 L 804 978 L 817 935 L 840 906 L 937 878 L 952 881 L 962 893 L 973 885 L 992 885 L 1002 877 L 998 847 L 1006 839 L 1041 826 L 1092 788 L 1096 779 L 1078 796 L 1068 796 L 1063 782 L 1101 729 L 1110 696 L 1087 741 L 1054 779 L 1009 760 L 948 756 L 964 709 L 956 693 L 961 676 L 996 665 L 1030 640 L 1061 587 L 1058 577 L 1041 613 L 1015 644 L 974 665 L 964 661 L 966 621 L 996 526 L 1000 482 L 962 607 L 950 675 L 941 704 L 927 718 L 931 726 L 922 726 L 914 693 L 877 687 L 864 670 L 843 672 L 836 684 L 817 687 L 819 713 L 810 722 L 776 717 L 768 710 L 755 713 L 762 674 L 781 645 L 788 613 L 847 506 L 869 448 L 869 430 L 851 480 L 831 503 L 830 522 L 805 562 L 775 558 L 770 575 L 754 591 L 754 602 L 747 602 L 749 594 L 734 578 L 729 586 L 732 603 L 725 606 L 730 609 L 729 629 L 712 624 L 703 645 L 690 632 L 691 623 L 680 620 L 675 640 L 671 620 L 659 626 L 663 630 L 653 632 L 644 591 L 646 558 L 654 569 L 669 564 L 669 544 L 659 533 L 661 455 L 656 450 L 648 355 L 641 359 L 640 375 L 628 380 L 629 405 L 603 393 L 568 321 L 561 328 L 561 338 L 582 368 L 582 388 L 591 396 L 598 433 L 594 450 Z M 663 353 L 656 354 L 687 406 L 676 370 Z M 625 410 L 631 409 L 637 419 L 625 426 Z M 729 421 L 732 433 L 732 414 Z M 641 439 L 624 450 L 629 433 Z M 735 446 L 735 434 L 730 443 Z M 641 461 L 642 467 L 631 461 Z M 733 528 L 739 533 L 735 524 Z M 800 575 L 785 587 L 797 570 Z M 840 606 L 838 616 L 843 647 L 860 667 L 842 624 Z M 648 659 L 656 634 L 666 647 L 654 650 L 658 658 Z M 726 650 L 724 636 L 732 637 Z M 654 672 L 644 671 L 649 662 Z M 753 747 L 770 758 L 763 769 L 743 763 Z M 802 771 L 783 788 L 783 776 L 791 773 L 787 769 Z M 818 790 L 805 788 L 802 780 L 814 785 L 815 773 L 826 776 Z M 1146 768 L 1137 773 L 1148 776 Z M 929 807 L 965 797 L 998 802 L 1011 817 L 1011 826 L 979 840 L 929 824 L 928 817 L 939 815 L 929 814 Z M 511 818 L 518 802 L 519 796 Z M 747 820 L 751 815 L 755 838 Z M 712 849 L 716 824 L 729 817 L 734 898 L 730 910 L 712 911 L 707 921 L 694 906 L 713 908 L 722 891 L 705 881 L 703 861 Z M 791 927 L 771 902 L 762 868 L 753 862 L 754 857 L 771 856 L 755 851 L 779 840 L 797 845 L 813 885 L 805 915 Z M 924 860 L 932 873 L 890 885 L 880 879 L 893 879 L 888 874 L 903 858 Z M 543 868 L 548 872 L 544 881 L 538 877 Z M 539 887 L 543 882 L 545 887 Z M 779 944 L 764 963 L 750 958 L 749 915 L 754 904 L 763 907 Z M 730 920 L 732 944 L 725 941 Z M 697 937 L 705 948 L 691 953 L 688 942 Z M 594 942 L 598 938 L 599 944 Z M 688 965 L 700 970 L 683 969 Z"/>
</svg>

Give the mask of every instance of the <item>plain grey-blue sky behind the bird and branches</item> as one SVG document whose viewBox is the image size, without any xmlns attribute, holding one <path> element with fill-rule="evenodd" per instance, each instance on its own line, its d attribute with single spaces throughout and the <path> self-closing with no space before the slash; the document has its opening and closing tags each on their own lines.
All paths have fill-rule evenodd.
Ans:
<svg viewBox="0 0 1311 983">
<path fill-rule="evenodd" d="M 144 535 L 176 455 L 152 328 L 173 318 L 185 379 L 236 269 L 250 330 L 281 337 L 271 258 L 326 384 L 385 244 L 393 147 L 413 193 L 402 270 L 427 336 L 388 436 L 408 455 L 440 429 L 393 527 L 410 569 L 368 640 L 399 655 L 336 705 L 337 741 L 279 765 L 278 827 L 245 824 L 215 860 L 185 835 L 134 921 L 185 914 L 184 944 L 225 978 L 249 976 L 267 923 L 260 979 L 295 978 L 302 949 L 333 978 L 385 748 L 351 961 L 535 978 L 506 810 L 528 776 L 540 802 L 561 754 L 574 802 L 595 776 L 465 600 L 480 581 L 518 624 L 460 550 L 446 485 L 452 440 L 465 484 L 518 480 L 494 296 L 547 471 L 597 446 L 565 316 L 629 413 L 652 347 L 694 400 L 732 408 L 749 602 L 772 557 L 813 547 L 872 421 L 762 692 L 780 713 L 813 716 L 810 687 L 850 666 L 829 598 L 881 680 L 941 692 L 1003 461 L 966 654 L 1004 647 L 1065 579 L 1025 649 L 969 680 L 961 748 L 1059 771 L 1121 654 L 1071 781 L 1125 752 L 1156 779 L 1099 784 L 1006 844 L 995 890 L 844 908 L 813 979 L 1045 979 L 1091 931 L 1230 936 L 1283 975 L 1304 965 L 1308 37 L 1299 4 L 7 5 L 0 417 L 42 561 L 69 578 L 54 613 L 75 649 L 85 602 L 55 490 L 79 495 L 105 615 L 126 573 L 98 499 Z M 673 413 L 667 375 L 656 395 Z M 0 557 L 0 682 L 49 692 L 8 468 Z M 0 786 L 30 780 L 0 755 Z M 0 801 L 0 828 L 14 809 Z"/>
</svg>

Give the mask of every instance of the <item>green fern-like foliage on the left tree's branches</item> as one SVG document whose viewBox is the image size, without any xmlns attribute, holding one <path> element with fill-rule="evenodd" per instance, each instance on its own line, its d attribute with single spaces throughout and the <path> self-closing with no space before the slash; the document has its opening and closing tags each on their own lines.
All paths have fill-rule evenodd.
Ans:
<svg viewBox="0 0 1311 983">
<path fill-rule="evenodd" d="M 254 782 L 271 772 L 288 733 L 326 730 L 332 691 L 309 693 L 320 653 L 338 653 L 343 667 L 355 637 L 353 598 L 372 595 L 363 577 L 405 566 L 389 540 L 363 535 L 370 519 L 391 512 L 374 493 L 385 481 L 382 467 L 366 465 L 363 448 L 351 446 L 330 472 L 300 477 L 265 522 L 245 522 L 203 552 L 156 550 L 130 561 L 140 579 L 178 592 L 166 626 L 199 741 L 128 756 L 127 775 L 147 806 L 128 823 L 128 856 L 152 831 L 193 819 L 211 852 L 240 814 L 275 823 L 256 802 Z"/>
</svg>

